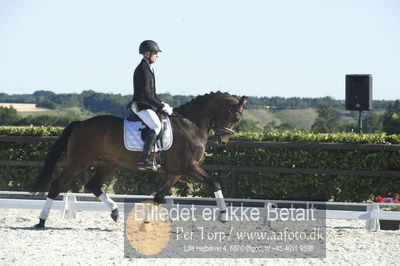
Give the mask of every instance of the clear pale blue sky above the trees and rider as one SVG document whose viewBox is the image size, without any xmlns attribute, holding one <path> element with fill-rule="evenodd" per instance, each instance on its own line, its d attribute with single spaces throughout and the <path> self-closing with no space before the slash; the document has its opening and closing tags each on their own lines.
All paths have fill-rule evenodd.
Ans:
<svg viewBox="0 0 400 266">
<path fill-rule="evenodd" d="M 0 92 L 132 94 L 145 39 L 158 93 L 400 98 L 397 0 L 0 0 Z"/>
</svg>

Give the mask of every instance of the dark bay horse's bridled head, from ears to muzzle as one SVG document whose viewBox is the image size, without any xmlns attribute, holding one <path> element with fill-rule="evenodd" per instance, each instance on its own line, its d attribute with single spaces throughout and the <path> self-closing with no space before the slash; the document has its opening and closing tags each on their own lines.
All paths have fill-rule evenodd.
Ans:
<svg viewBox="0 0 400 266">
<path fill-rule="evenodd" d="M 235 102 L 228 104 L 224 110 L 216 114 L 212 128 L 215 130 L 215 141 L 218 145 L 225 146 L 230 135 L 235 133 L 234 129 L 242 119 L 246 101 L 247 97 L 242 96 L 240 100 L 236 99 Z"/>
</svg>

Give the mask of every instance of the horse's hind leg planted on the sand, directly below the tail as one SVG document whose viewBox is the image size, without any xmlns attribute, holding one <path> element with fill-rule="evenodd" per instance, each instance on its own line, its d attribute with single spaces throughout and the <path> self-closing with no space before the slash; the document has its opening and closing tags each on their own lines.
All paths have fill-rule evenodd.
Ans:
<svg viewBox="0 0 400 266">
<path fill-rule="evenodd" d="M 89 167 L 89 166 L 87 166 Z M 43 206 L 42 211 L 39 215 L 39 223 L 35 225 L 35 228 L 43 228 L 47 217 L 49 216 L 51 206 L 55 198 L 60 194 L 60 192 L 67 186 L 67 184 L 74 178 L 83 172 L 86 168 L 80 164 L 80 167 L 73 167 L 72 164 L 68 163 L 67 167 L 63 170 L 60 177 L 53 181 L 50 187 L 49 194 L 47 195 L 46 202 Z"/>
</svg>

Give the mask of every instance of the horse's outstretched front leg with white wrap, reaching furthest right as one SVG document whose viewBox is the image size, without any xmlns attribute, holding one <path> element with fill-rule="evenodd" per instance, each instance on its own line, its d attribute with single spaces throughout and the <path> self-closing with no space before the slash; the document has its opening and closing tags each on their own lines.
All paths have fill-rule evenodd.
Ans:
<svg viewBox="0 0 400 266">
<path fill-rule="evenodd" d="M 217 200 L 217 207 L 219 210 L 219 219 L 221 222 L 228 221 L 228 213 L 226 208 L 226 203 L 224 200 L 224 195 L 222 194 L 222 189 L 220 183 L 215 181 L 211 176 L 208 175 L 206 171 L 204 171 L 199 166 L 193 166 L 191 176 L 197 178 L 198 180 L 206 183 L 209 187 L 211 187 L 214 191 L 215 199 Z"/>
</svg>

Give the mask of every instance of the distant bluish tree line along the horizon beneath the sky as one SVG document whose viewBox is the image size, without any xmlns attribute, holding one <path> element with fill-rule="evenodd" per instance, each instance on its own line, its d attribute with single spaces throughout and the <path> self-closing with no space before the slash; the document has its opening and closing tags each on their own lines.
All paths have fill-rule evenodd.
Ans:
<svg viewBox="0 0 400 266">
<path fill-rule="evenodd" d="M 158 94 L 158 97 L 168 102 L 172 107 L 178 107 L 191 99 L 194 95 Z M 112 93 L 99 93 L 86 90 L 82 93 L 56 94 L 52 91 L 39 90 L 33 94 L 8 95 L 0 93 L 0 102 L 35 103 L 38 107 L 55 109 L 57 107 L 82 107 L 93 112 L 105 112 L 113 115 L 125 114 L 126 104 L 131 100 L 131 95 Z M 374 100 L 373 109 L 383 110 L 393 101 Z M 300 97 L 249 97 L 247 108 L 268 109 L 308 109 L 319 108 L 321 104 L 329 103 L 336 109 L 344 110 L 344 100 L 335 100 L 332 97 L 300 98 Z"/>
</svg>

